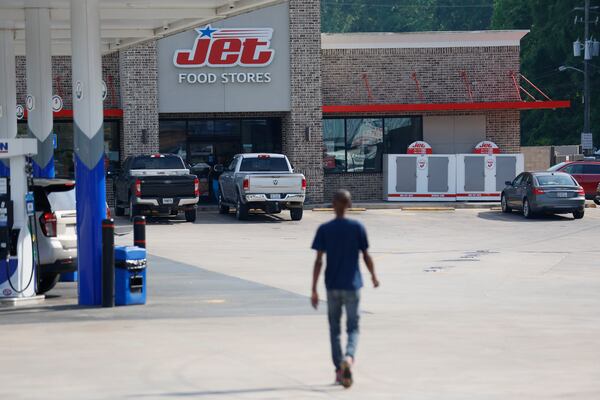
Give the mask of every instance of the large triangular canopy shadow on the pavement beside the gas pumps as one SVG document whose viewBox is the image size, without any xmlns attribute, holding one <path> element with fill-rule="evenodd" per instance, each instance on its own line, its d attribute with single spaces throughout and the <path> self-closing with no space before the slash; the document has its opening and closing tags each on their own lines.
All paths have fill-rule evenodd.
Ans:
<svg viewBox="0 0 600 400">
<path fill-rule="evenodd" d="M 56 286 L 41 305 L 0 307 L 2 325 L 107 320 L 315 315 L 308 297 L 150 255 L 148 301 L 127 307 L 80 307 L 77 283 Z M 322 307 L 321 309 L 323 309 Z"/>
</svg>

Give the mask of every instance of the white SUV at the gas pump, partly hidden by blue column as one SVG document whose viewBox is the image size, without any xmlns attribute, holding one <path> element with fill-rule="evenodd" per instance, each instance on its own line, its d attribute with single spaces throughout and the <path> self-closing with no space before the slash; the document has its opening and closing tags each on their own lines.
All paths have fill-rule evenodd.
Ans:
<svg viewBox="0 0 600 400">
<path fill-rule="evenodd" d="M 37 292 L 46 293 L 61 273 L 77 270 L 75 182 L 35 179 L 32 191 L 39 262 Z"/>
</svg>

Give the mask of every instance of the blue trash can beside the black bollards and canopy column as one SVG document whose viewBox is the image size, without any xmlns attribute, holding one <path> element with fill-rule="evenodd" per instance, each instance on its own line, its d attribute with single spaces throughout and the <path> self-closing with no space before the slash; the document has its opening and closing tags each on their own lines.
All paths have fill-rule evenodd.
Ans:
<svg viewBox="0 0 600 400">
<path fill-rule="evenodd" d="M 146 304 L 146 249 L 115 246 L 115 305 Z"/>
</svg>

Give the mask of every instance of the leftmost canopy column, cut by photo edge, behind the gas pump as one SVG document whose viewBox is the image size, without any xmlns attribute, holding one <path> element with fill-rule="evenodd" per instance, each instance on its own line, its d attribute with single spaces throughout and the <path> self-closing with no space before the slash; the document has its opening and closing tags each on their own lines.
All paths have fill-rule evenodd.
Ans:
<svg viewBox="0 0 600 400">
<path fill-rule="evenodd" d="M 17 88 L 14 31 L 0 29 L 0 139 L 17 137 Z M 0 177 L 10 176 L 9 161 L 0 161 Z"/>
</svg>

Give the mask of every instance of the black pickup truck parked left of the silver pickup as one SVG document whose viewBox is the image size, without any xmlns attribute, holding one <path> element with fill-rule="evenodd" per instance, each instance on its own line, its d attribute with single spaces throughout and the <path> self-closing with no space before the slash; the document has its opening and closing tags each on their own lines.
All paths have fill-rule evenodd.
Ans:
<svg viewBox="0 0 600 400">
<path fill-rule="evenodd" d="M 196 220 L 200 196 L 196 175 L 191 175 L 181 157 L 172 154 L 132 156 L 125 159 L 115 178 L 115 214 L 178 215 Z"/>
</svg>

